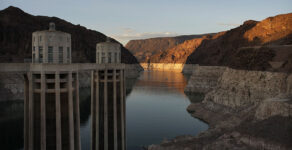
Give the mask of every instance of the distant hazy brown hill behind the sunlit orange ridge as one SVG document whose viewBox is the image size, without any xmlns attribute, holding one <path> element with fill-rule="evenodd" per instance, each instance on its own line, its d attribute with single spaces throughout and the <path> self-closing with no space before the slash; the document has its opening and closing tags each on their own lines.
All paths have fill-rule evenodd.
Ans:
<svg viewBox="0 0 292 150">
<path fill-rule="evenodd" d="M 134 54 L 134 56 L 137 57 L 139 62 L 148 62 L 149 59 L 155 54 L 164 52 L 169 48 L 173 48 L 186 40 L 200 38 L 202 36 L 204 35 L 184 35 L 177 37 L 131 40 L 126 44 L 125 47 L 129 49 Z"/>
</svg>

